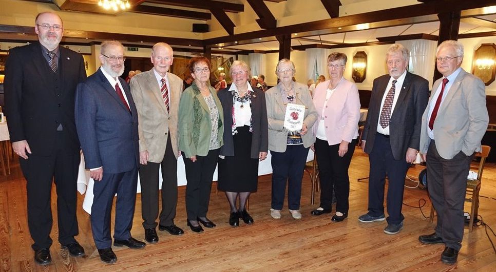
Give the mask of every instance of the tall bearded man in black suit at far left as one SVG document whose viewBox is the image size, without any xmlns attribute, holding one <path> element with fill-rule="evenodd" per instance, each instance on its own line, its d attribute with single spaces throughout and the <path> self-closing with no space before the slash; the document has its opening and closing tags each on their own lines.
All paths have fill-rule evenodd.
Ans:
<svg viewBox="0 0 496 272">
<path fill-rule="evenodd" d="M 39 43 L 10 50 L 5 69 L 6 115 L 14 152 L 26 178 L 28 226 L 34 260 L 51 262 L 52 179 L 57 192 L 59 242 L 73 256 L 84 249 L 76 217 L 80 144 L 74 124 L 74 93 L 86 78 L 81 54 L 60 47 L 62 19 L 36 16 Z"/>
</svg>

